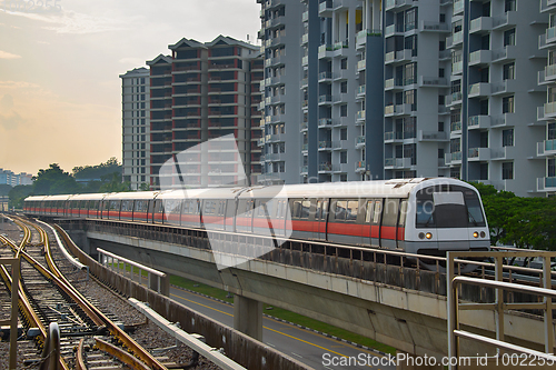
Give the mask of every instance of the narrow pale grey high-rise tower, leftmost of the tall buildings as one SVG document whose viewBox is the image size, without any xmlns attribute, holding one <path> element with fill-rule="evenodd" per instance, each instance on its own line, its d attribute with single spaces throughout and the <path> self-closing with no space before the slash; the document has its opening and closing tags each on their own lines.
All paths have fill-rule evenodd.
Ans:
<svg viewBox="0 0 556 370">
<path fill-rule="evenodd" d="M 121 78 L 122 177 L 131 190 L 150 184 L 149 70 L 136 68 Z"/>
</svg>

